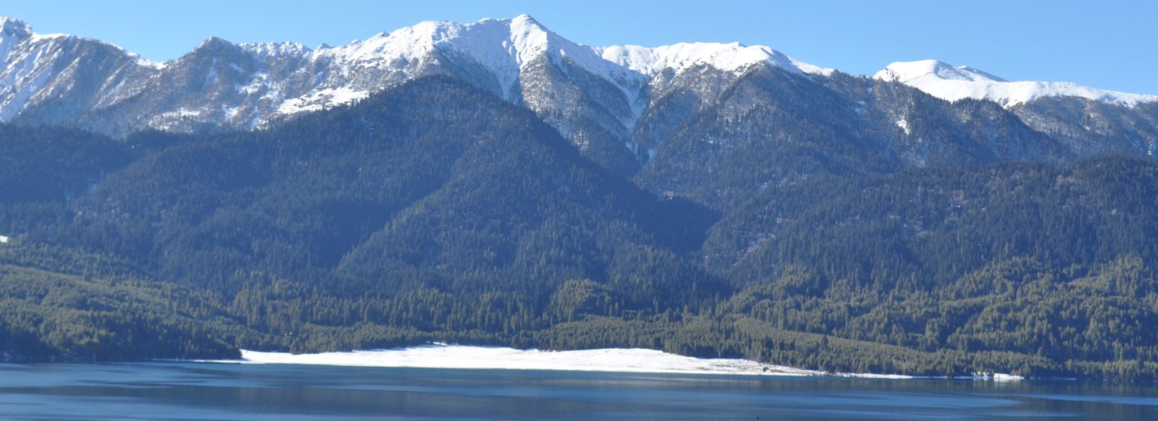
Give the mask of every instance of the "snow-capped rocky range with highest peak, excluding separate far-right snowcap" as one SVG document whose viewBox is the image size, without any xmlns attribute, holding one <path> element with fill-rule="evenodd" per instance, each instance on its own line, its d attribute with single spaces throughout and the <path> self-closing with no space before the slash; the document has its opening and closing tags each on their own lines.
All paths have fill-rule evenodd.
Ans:
<svg viewBox="0 0 1158 421">
<path fill-rule="evenodd" d="M 445 74 L 527 106 L 596 161 L 629 172 L 640 149 L 631 133 L 673 86 L 714 86 L 702 89 L 710 102 L 753 66 L 831 72 L 734 43 L 593 49 L 528 15 L 423 22 L 317 49 L 214 37 L 163 64 L 93 39 L 37 35 L 13 19 L 3 28 L 0 121 L 69 124 L 115 136 L 144 128 L 250 130 Z M 681 79 L 684 73 L 692 76 Z M 720 77 L 723 84 L 714 81 Z"/>
</svg>

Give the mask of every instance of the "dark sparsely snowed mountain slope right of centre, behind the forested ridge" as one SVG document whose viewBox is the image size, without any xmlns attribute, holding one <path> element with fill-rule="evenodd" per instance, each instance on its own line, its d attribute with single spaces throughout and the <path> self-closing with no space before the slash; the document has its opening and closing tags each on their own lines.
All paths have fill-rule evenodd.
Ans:
<svg viewBox="0 0 1158 421">
<path fill-rule="evenodd" d="M 950 103 L 900 83 L 774 66 L 753 66 L 710 93 L 699 88 L 706 82 L 682 83 L 655 98 L 637 126 L 654 156 L 635 179 L 725 213 L 814 176 L 1073 157 L 996 103 Z"/>
</svg>

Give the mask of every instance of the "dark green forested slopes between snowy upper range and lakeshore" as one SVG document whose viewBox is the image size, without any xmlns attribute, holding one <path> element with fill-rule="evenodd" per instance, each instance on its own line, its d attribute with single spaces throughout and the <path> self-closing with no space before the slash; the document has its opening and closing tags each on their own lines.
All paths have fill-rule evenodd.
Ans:
<svg viewBox="0 0 1158 421">
<path fill-rule="evenodd" d="M 866 101 L 1016 119 L 841 77 Z M 1158 378 L 1158 164 L 1078 158 L 1010 124 L 1001 139 L 1038 158 L 997 158 L 1017 148 L 974 145 L 991 123 L 952 118 L 877 145 L 866 131 L 891 117 L 802 81 L 754 74 L 694 106 L 635 178 L 449 77 L 254 132 L 0 126 L 0 349 L 450 341 Z M 761 91 L 779 96 L 738 99 Z M 802 101 L 816 109 L 787 110 Z M 947 149 L 918 154 L 933 141 Z"/>
</svg>

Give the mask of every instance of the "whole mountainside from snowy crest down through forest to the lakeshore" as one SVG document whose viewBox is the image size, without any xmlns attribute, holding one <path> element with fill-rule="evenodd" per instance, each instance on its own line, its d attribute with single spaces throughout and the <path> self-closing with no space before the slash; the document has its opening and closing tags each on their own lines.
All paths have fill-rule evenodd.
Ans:
<svg viewBox="0 0 1158 421">
<path fill-rule="evenodd" d="M 3 360 L 427 341 L 1158 379 L 1158 96 L 527 15 L 151 62 L 0 19 Z"/>
</svg>

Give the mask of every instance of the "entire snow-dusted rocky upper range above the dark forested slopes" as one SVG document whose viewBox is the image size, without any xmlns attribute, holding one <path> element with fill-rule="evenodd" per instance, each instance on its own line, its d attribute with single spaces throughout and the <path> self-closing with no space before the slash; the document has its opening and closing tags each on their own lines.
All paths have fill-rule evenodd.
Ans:
<svg viewBox="0 0 1158 421">
<path fill-rule="evenodd" d="M 100 40 L 38 35 L 3 17 L 0 60 L 0 123 L 68 125 L 113 136 L 148 128 L 261 128 L 417 77 L 446 75 L 526 106 L 622 175 L 636 173 L 662 155 L 670 139 L 689 133 L 702 133 L 696 141 L 709 145 L 783 142 L 794 138 L 777 135 L 801 121 L 799 133 L 852 136 L 841 141 L 879 148 L 911 165 L 948 162 L 962 150 L 983 161 L 1021 160 L 1032 150 L 1046 152 L 1038 160 L 1053 160 L 1062 153 L 1050 139 L 1079 156 L 1158 150 L 1158 96 L 1010 82 L 933 60 L 851 77 L 739 43 L 592 47 L 527 15 L 423 22 L 316 49 L 213 37 L 162 64 Z M 915 105 L 924 101 L 913 95 L 918 90 L 950 102 L 988 99 L 1007 112 L 982 108 L 930 116 L 948 111 Z M 958 131 L 952 142 L 960 145 L 938 145 L 948 140 L 931 127 Z M 730 138 L 716 139 L 723 133 Z M 1010 139 L 1029 140 L 1018 146 L 1020 140 Z M 696 160 L 688 155 L 687 162 Z"/>
</svg>

